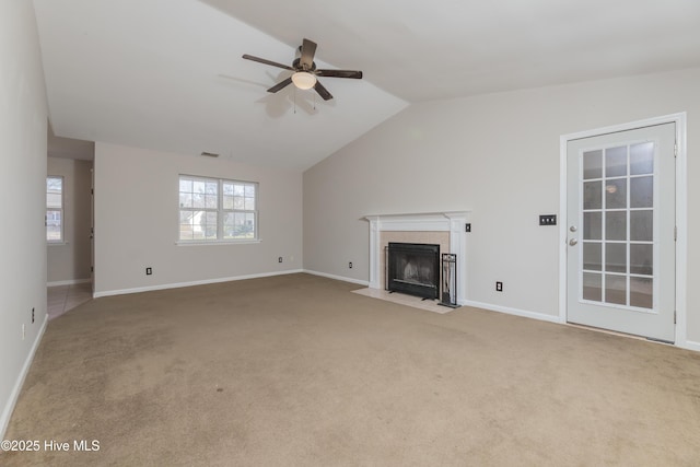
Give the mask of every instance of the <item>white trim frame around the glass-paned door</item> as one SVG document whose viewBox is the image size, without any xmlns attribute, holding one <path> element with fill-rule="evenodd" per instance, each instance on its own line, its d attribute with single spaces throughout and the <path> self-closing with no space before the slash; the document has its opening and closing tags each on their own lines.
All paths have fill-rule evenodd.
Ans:
<svg viewBox="0 0 700 467">
<path fill-rule="evenodd" d="M 567 323 L 567 147 L 569 141 L 596 137 L 600 135 L 619 131 L 633 130 L 635 128 L 650 127 L 663 124 L 676 124 L 676 347 L 688 348 L 686 341 L 686 291 L 687 291 L 687 266 L 688 257 L 688 187 L 687 187 L 687 160 L 686 160 L 686 120 L 685 112 L 678 114 L 653 117 L 644 120 L 630 121 L 627 124 L 614 125 L 591 130 L 578 131 L 575 133 L 562 135 L 559 137 L 559 320 Z"/>
</svg>

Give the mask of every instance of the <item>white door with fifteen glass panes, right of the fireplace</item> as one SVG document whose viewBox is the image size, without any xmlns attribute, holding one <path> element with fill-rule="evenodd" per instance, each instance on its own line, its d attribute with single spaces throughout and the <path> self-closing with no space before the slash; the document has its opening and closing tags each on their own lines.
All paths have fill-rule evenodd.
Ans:
<svg viewBox="0 0 700 467">
<path fill-rule="evenodd" d="M 675 339 L 674 122 L 567 145 L 567 320 Z"/>
</svg>

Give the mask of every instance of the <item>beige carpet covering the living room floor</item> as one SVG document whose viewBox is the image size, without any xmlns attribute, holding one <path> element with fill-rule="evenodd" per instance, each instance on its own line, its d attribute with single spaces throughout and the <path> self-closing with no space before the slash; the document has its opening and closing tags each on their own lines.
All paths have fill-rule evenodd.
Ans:
<svg viewBox="0 0 700 467">
<path fill-rule="evenodd" d="M 358 288 L 293 275 L 81 305 L 48 324 L 5 435 L 42 450 L 0 465 L 700 465 L 700 354 Z"/>
</svg>

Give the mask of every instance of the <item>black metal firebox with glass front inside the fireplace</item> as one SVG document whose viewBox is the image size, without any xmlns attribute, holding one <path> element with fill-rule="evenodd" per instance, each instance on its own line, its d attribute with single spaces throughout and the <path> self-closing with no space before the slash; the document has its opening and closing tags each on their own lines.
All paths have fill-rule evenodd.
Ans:
<svg viewBox="0 0 700 467">
<path fill-rule="evenodd" d="M 423 299 L 440 295 L 440 245 L 390 242 L 386 289 Z"/>
</svg>

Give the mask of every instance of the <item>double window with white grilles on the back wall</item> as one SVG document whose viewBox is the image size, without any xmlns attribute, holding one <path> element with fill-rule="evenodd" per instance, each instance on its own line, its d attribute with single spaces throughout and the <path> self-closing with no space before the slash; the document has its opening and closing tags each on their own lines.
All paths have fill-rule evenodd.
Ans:
<svg viewBox="0 0 700 467">
<path fill-rule="evenodd" d="M 182 242 L 255 241 L 258 184 L 179 176 Z"/>
</svg>

